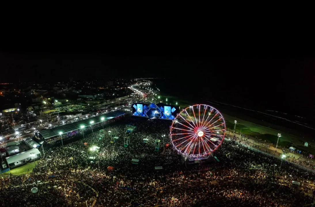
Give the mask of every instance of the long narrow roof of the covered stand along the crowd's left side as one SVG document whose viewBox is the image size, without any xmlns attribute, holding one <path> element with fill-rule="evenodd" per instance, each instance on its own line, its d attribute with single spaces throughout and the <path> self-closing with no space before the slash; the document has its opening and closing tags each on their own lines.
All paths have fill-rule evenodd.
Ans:
<svg viewBox="0 0 315 207">
<path fill-rule="evenodd" d="M 104 117 L 104 121 L 124 115 L 125 113 L 121 112 L 121 111 L 113 111 L 113 112 L 109 112 L 107 114 L 102 114 L 102 115 L 97 115 L 95 117 L 90 117 L 88 119 L 84 119 L 84 120 L 78 120 L 75 121 L 73 123 L 69 123 L 69 124 L 65 124 L 65 125 L 61 125 L 61 126 L 57 126 L 54 127 L 52 129 L 45 129 L 42 131 L 39 131 L 39 133 L 43 136 L 44 139 L 50 138 L 50 137 L 54 137 L 59 135 L 59 132 L 61 131 L 63 134 L 70 132 L 70 131 L 74 131 L 77 129 L 81 129 L 81 126 L 91 126 L 90 122 L 94 121 L 93 124 L 97 124 L 102 122 L 101 117 Z"/>
</svg>

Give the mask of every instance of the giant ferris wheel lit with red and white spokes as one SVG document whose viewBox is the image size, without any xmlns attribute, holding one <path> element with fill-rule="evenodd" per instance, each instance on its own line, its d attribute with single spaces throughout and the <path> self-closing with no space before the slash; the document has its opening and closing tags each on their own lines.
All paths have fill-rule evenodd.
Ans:
<svg viewBox="0 0 315 207">
<path fill-rule="evenodd" d="M 183 109 L 170 127 L 171 142 L 185 160 L 208 158 L 221 145 L 224 136 L 223 116 L 205 104 Z"/>
</svg>

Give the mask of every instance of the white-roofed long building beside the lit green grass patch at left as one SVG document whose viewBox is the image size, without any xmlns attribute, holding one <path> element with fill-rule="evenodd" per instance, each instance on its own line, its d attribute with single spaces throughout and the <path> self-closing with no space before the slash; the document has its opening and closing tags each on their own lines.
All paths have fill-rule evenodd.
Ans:
<svg viewBox="0 0 315 207">
<path fill-rule="evenodd" d="M 5 158 L 10 169 L 26 164 L 27 162 L 31 161 L 32 159 L 39 159 L 41 158 L 41 154 L 38 149 L 31 149 L 19 154 L 12 155 L 10 157 Z"/>
</svg>

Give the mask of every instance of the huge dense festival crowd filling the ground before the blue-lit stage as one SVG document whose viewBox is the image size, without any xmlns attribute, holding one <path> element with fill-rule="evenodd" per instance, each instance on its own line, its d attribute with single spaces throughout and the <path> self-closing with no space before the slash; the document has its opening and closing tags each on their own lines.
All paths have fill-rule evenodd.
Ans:
<svg viewBox="0 0 315 207">
<path fill-rule="evenodd" d="M 126 124 L 136 126 L 135 131 L 126 135 Z M 315 176 L 281 164 L 279 159 L 249 151 L 234 141 L 222 143 L 215 152 L 219 162 L 210 158 L 209 162 L 183 165 L 171 145 L 162 147 L 169 143 L 170 124 L 165 120 L 125 118 L 104 126 L 105 133 L 97 130 L 83 139 L 45 150 L 33 172 L 0 178 L 0 199 L 8 207 L 313 203 Z M 111 142 L 112 135 L 119 137 L 116 142 Z M 126 136 L 130 137 L 128 147 L 124 147 Z M 161 140 L 158 152 L 154 151 L 155 139 Z M 131 159 L 140 161 L 133 164 Z M 108 166 L 114 169 L 109 170 Z M 155 166 L 163 169 L 156 170 Z M 293 185 L 292 181 L 300 185 Z M 31 193 L 32 187 L 37 187 L 38 192 Z"/>
</svg>

